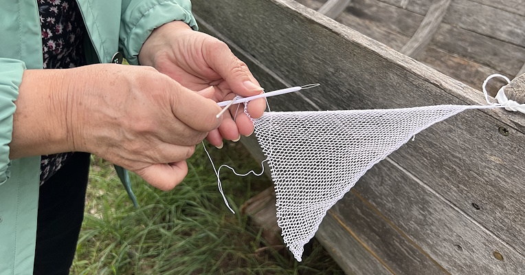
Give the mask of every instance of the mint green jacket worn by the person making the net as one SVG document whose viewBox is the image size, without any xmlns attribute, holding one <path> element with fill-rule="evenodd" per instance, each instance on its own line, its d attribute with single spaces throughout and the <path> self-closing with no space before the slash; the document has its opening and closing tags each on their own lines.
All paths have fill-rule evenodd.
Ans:
<svg viewBox="0 0 525 275">
<path fill-rule="evenodd" d="M 25 69 L 42 69 L 37 0 L 0 0 L 0 275 L 33 274 L 40 157 L 9 159 L 14 102 Z M 180 20 L 195 30 L 190 0 L 77 0 L 89 63 L 122 51 L 137 64 L 153 29 Z"/>
</svg>

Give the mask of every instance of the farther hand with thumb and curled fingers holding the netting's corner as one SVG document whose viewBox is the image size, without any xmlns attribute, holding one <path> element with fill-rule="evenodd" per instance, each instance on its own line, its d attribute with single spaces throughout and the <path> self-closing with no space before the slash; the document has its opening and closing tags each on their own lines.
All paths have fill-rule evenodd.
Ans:
<svg viewBox="0 0 525 275">
<path fill-rule="evenodd" d="M 208 34 L 195 32 L 181 21 L 155 29 L 142 46 L 139 62 L 155 67 L 194 91 L 213 86 L 211 96 L 216 102 L 231 100 L 236 95 L 247 97 L 263 92 L 246 64 L 238 60 L 225 43 Z M 221 147 L 223 138 L 237 141 L 241 134 L 252 134 L 254 125 L 243 107 L 232 105 L 219 129 L 209 133 L 208 142 Z M 265 108 L 264 99 L 253 100 L 248 104 L 248 113 L 252 118 L 260 118 Z"/>
</svg>

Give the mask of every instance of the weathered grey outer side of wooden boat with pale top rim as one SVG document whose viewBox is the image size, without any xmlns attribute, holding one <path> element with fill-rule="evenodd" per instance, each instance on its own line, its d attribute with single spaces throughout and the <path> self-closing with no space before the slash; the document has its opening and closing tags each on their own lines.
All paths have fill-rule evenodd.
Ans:
<svg viewBox="0 0 525 275">
<path fill-rule="evenodd" d="M 192 2 L 201 30 L 267 91 L 322 84 L 269 98 L 273 111 L 485 104 L 480 91 L 295 1 Z M 350 274 L 525 274 L 524 133 L 525 115 L 501 109 L 435 124 L 369 170 L 317 239 Z M 263 158 L 256 140 L 244 142 Z"/>
</svg>

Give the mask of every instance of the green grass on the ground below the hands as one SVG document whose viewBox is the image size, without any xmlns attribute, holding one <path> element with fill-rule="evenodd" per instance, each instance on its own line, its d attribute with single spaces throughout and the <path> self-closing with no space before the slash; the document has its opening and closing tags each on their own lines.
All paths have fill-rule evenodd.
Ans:
<svg viewBox="0 0 525 275">
<path fill-rule="evenodd" d="M 212 150 L 216 164 L 259 170 L 240 144 Z M 229 157 L 228 155 L 231 155 Z M 135 209 L 111 165 L 93 157 L 82 232 L 71 274 L 342 274 L 318 243 L 298 263 L 267 246 L 241 214 L 242 203 L 270 186 L 266 177 L 221 175 L 227 210 L 201 146 L 182 184 L 161 192 L 132 175 Z"/>
</svg>

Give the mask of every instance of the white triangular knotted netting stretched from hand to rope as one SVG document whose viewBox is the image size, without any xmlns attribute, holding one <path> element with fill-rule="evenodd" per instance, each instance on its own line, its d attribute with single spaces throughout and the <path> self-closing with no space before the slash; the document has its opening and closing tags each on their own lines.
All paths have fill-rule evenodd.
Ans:
<svg viewBox="0 0 525 275">
<path fill-rule="evenodd" d="M 416 133 L 473 108 L 480 107 L 269 112 L 254 119 L 275 184 L 278 225 L 295 259 L 301 261 L 326 211 L 368 169 Z"/>
</svg>

